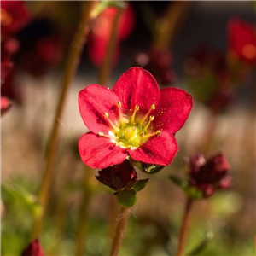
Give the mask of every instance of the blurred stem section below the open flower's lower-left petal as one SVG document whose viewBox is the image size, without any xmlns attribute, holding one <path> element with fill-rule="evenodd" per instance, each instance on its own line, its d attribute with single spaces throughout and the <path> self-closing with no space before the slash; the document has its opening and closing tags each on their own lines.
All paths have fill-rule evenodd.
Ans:
<svg viewBox="0 0 256 256">
<path fill-rule="evenodd" d="M 92 169 L 86 166 L 84 171 L 83 197 L 79 209 L 78 232 L 75 241 L 75 256 L 84 255 L 84 244 L 86 240 L 86 233 L 88 230 L 88 205 L 92 195 L 90 187 L 90 178 L 92 177 Z"/>
</svg>

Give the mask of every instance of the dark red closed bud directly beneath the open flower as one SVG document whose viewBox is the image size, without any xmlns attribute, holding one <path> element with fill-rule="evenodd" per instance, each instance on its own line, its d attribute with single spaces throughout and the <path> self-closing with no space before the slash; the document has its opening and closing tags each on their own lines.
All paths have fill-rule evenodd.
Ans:
<svg viewBox="0 0 256 256">
<path fill-rule="evenodd" d="M 137 173 L 128 160 L 102 169 L 99 175 L 96 176 L 97 180 L 114 190 L 132 189 L 137 183 Z"/>
</svg>

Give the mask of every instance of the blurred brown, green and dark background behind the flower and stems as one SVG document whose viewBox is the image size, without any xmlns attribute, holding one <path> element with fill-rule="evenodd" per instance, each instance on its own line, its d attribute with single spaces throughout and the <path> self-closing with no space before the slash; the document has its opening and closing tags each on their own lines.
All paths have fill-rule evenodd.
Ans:
<svg viewBox="0 0 256 256">
<path fill-rule="evenodd" d="M 30 239 L 45 146 L 82 1 L 24 1 L 24 6 L 30 18 L 8 44 L 15 49 L 14 67 L 1 87 L 1 96 L 12 103 L 1 116 L 1 255 L 6 256 L 20 255 Z M 96 180 L 97 170 L 84 166 L 77 148 L 87 132 L 78 93 L 99 83 L 112 26 L 114 12 L 104 12 L 91 25 L 60 120 L 61 143 L 40 237 L 46 255 L 74 254 L 79 214 L 86 223 L 82 255 L 108 255 L 118 214 L 113 191 Z M 242 29 L 247 26 L 254 45 L 248 57 L 235 50 L 247 37 Z M 125 70 L 141 66 L 160 88 L 189 91 L 195 105 L 177 132 L 179 151 L 172 165 L 152 176 L 137 171 L 149 183 L 131 208 L 119 255 L 175 254 L 185 195 L 169 177 L 186 177 L 185 160 L 197 152 L 206 158 L 224 153 L 232 186 L 195 202 L 187 252 L 201 246 L 193 255 L 255 255 L 255 38 L 255 1 L 130 1 L 104 85 L 113 87 Z"/>
</svg>

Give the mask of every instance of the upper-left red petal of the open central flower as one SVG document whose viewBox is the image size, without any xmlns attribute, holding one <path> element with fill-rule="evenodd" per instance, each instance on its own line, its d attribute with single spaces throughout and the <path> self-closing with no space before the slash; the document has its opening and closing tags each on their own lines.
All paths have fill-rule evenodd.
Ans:
<svg viewBox="0 0 256 256">
<path fill-rule="evenodd" d="M 96 134 L 100 131 L 108 134 L 109 129 L 113 130 L 104 113 L 107 112 L 108 118 L 115 123 L 119 118 L 116 102 L 119 102 L 119 98 L 113 90 L 101 85 L 90 84 L 84 90 L 80 90 L 79 111 L 87 128 Z"/>
</svg>

